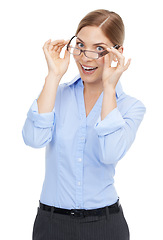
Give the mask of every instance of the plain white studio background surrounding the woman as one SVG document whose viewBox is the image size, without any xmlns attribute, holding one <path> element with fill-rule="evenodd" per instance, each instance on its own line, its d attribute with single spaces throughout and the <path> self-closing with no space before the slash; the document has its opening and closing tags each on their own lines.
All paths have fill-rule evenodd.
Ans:
<svg viewBox="0 0 163 240">
<path fill-rule="evenodd" d="M 130 227 L 131 240 L 162 239 L 162 25 L 161 1 L 6 0 L 0 3 L 0 238 L 32 239 L 44 179 L 45 149 L 27 147 L 22 127 L 38 97 L 47 66 L 42 47 L 48 39 L 70 39 L 81 18 L 105 8 L 126 26 L 124 91 L 147 112 L 136 140 L 116 168 L 115 186 Z M 78 73 L 73 59 L 62 79 Z M 84 240 L 84 239 L 83 239 Z"/>
</svg>

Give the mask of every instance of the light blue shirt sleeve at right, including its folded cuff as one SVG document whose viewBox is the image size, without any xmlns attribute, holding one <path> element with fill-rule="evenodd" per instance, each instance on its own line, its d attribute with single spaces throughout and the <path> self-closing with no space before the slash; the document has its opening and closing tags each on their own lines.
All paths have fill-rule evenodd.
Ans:
<svg viewBox="0 0 163 240">
<path fill-rule="evenodd" d="M 106 164 L 116 164 L 132 145 L 146 109 L 140 101 L 134 102 L 126 113 L 118 108 L 101 121 L 98 118 L 94 129 L 98 135 L 102 159 Z"/>
</svg>

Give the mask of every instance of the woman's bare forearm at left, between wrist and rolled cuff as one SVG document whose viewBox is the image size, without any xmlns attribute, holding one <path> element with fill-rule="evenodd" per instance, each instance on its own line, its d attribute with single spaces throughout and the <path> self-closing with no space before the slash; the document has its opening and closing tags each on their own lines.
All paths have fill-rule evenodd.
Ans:
<svg viewBox="0 0 163 240">
<path fill-rule="evenodd" d="M 49 73 L 46 77 L 43 90 L 37 99 L 39 113 L 53 110 L 60 80 L 53 73 Z"/>
</svg>

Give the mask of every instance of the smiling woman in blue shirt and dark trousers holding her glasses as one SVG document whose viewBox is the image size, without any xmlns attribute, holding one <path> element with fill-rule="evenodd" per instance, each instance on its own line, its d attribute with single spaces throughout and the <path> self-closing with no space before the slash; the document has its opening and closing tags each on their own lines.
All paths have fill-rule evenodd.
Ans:
<svg viewBox="0 0 163 240">
<path fill-rule="evenodd" d="M 123 41 L 121 17 L 96 10 L 81 20 L 69 42 L 44 44 L 48 75 L 22 132 L 27 145 L 46 146 L 34 240 L 129 239 L 113 177 L 134 141 L 145 107 L 126 95 L 119 82 L 130 65 L 122 55 Z M 79 76 L 59 84 L 70 53 Z"/>
</svg>

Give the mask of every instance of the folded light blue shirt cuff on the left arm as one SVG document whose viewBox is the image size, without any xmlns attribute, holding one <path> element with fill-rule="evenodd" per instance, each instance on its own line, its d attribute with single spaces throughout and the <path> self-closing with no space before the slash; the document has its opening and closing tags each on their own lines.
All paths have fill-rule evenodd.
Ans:
<svg viewBox="0 0 163 240">
<path fill-rule="evenodd" d="M 49 113 L 38 113 L 37 99 L 32 103 L 27 117 L 34 122 L 35 127 L 49 128 L 54 126 L 55 108 Z"/>
</svg>

